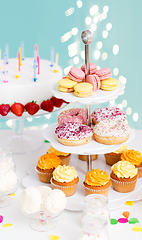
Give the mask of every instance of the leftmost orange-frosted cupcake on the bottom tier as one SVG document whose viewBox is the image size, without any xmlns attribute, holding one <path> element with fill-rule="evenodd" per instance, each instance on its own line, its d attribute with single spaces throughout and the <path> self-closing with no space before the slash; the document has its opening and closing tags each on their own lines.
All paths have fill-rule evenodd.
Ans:
<svg viewBox="0 0 142 240">
<path fill-rule="evenodd" d="M 43 183 L 50 183 L 54 169 L 60 164 L 61 159 L 55 153 L 46 153 L 42 155 L 36 166 L 39 180 Z"/>
</svg>

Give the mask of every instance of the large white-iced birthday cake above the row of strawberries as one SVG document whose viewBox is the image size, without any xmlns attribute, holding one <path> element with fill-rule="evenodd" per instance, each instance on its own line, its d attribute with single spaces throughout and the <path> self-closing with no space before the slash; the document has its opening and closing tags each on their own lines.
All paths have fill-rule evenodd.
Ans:
<svg viewBox="0 0 142 240">
<path fill-rule="evenodd" d="M 10 58 L 5 71 L 4 60 L 1 61 L 0 105 L 11 106 L 16 102 L 25 106 L 31 101 L 40 105 L 44 100 L 51 98 L 51 86 L 62 78 L 61 67 L 57 65 L 57 71 L 54 71 L 55 64 L 52 67 L 48 60 L 40 59 L 39 68 L 36 67 L 36 70 L 33 58 L 25 58 L 21 63 L 20 71 L 17 71 L 17 59 Z M 16 75 L 19 77 L 16 78 Z"/>
</svg>

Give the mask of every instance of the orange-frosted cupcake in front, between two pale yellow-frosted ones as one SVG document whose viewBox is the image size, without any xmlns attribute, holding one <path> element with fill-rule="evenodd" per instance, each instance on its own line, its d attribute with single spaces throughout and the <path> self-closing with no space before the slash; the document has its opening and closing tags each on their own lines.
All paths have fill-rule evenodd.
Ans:
<svg viewBox="0 0 142 240">
<path fill-rule="evenodd" d="M 92 169 L 86 174 L 83 185 L 86 195 L 96 193 L 108 196 L 111 186 L 110 176 L 99 168 Z"/>
</svg>

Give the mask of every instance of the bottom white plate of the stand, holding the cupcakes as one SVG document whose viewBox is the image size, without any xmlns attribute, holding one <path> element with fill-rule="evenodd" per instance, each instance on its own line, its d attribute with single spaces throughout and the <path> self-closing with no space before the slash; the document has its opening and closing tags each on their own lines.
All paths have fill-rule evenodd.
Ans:
<svg viewBox="0 0 142 240">
<path fill-rule="evenodd" d="M 70 166 L 74 166 L 77 170 L 78 176 L 79 176 L 79 183 L 77 186 L 76 193 L 67 198 L 67 210 L 71 211 L 82 211 L 84 208 L 84 197 L 85 197 L 85 190 L 83 186 L 83 181 L 85 179 L 85 174 L 87 173 L 87 163 L 85 161 L 81 161 L 78 159 L 78 155 L 72 154 L 71 160 L 70 160 Z M 111 172 L 111 168 L 109 165 L 106 164 L 104 155 L 99 155 L 98 159 L 92 162 L 92 167 L 94 169 L 99 168 L 103 171 L 107 171 L 108 174 Z M 27 175 L 23 181 L 22 184 L 25 188 L 31 187 L 31 186 L 40 186 L 40 185 L 46 185 L 50 186 L 51 184 L 45 184 L 39 181 L 37 173 L 35 171 L 35 165 L 31 165 L 28 169 L 28 173 L 30 175 Z M 135 201 L 140 200 L 142 198 L 142 178 L 138 179 L 136 188 L 134 191 L 130 193 L 119 193 L 113 190 L 111 187 L 109 190 L 109 204 L 108 208 L 109 210 L 116 209 L 122 205 L 125 204 L 126 201 Z"/>
</svg>

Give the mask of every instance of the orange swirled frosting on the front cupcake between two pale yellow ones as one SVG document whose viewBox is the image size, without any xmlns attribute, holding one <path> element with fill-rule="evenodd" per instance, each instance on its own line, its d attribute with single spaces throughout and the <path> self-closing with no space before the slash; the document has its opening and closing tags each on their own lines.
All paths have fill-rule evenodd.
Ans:
<svg viewBox="0 0 142 240">
<path fill-rule="evenodd" d="M 110 176 L 108 173 L 103 170 L 92 169 L 89 171 L 85 176 L 85 183 L 87 183 L 90 186 L 104 186 L 107 184 L 110 180 Z"/>
</svg>

